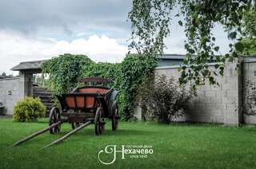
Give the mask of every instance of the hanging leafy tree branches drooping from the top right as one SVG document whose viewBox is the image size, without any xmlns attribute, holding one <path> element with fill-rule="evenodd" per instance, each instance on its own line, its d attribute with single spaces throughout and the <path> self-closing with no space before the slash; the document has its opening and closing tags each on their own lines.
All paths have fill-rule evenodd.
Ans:
<svg viewBox="0 0 256 169">
<path fill-rule="evenodd" d="M 132 37 L 130 49 L 137 49 L 138 53 L 146 56 L 162 54 L 164 38 L 170 34 L 172 13 L 178 9 L 178 14 L 184 21 L 178 21 L 185 26 L 186 59 L 181 69 L 181 84 L 190 81 L 195 88 L 205 82 L 216 84 L 214 75 L 223 75 L 224 65 L 216 65 L 214 72 L 209 70 L 207 61 L 225 63 L 238 57 L 243 50 L 243 44 L 238 35 L 242 34 L 242 17 L 250 10 L 255 2 L 251 0 L 133 0 L 129 18 L 132 23 Z M 212 33 L 214 25 L 224 26 L 228 37 L 238 41 L 230 44 L 230 53 L 225 56 L 215 56 L 219 46 L 215 45 Z M 186 66 L 185 66 L 186 65 Z"/>
</svg>

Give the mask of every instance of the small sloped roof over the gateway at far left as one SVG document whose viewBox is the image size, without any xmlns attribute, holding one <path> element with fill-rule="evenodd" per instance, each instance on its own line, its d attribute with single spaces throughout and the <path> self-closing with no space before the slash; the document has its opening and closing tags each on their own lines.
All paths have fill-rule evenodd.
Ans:
<svg viewBox="0 0 256 169">
<path fill-rule="evenodd" d="M 15 65 L 12 69 L 13 71 L 19 71 L 19 70 L 29 70 L 29 69 L 41 69 L 42 63 L 46 62 L 47 60 L 41 60 L 41 61 L 24 61 L 19 63 L 18 65 Z"/>
</svg>

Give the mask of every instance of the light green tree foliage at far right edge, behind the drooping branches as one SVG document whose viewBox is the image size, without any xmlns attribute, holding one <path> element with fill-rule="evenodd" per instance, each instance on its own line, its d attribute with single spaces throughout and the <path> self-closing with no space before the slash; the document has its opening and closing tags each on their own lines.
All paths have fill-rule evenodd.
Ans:
<svg viewBox="0 0 256 169">
<path fill-rule="evenodd" d="M 240 54 L 256 56 L 256 9 L 252 8 L 244 14 L 242 22 L 242 44 L 244 49 Z"/>
</svg>

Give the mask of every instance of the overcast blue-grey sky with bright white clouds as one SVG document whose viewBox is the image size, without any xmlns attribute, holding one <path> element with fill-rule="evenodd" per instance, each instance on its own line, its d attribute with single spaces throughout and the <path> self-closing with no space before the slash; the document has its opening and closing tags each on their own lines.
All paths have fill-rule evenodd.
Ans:
<svg viewBox="0 0 256 169">
<path fill-rule="evenodd" d="M 131 0 L 0 0 L 0 73 L 21 61 L 82 53 L 94 61 L 120 62 L 127 53 Z M 214 34 L 220 54 L 229 41 Z M 185 53 L 185 33 L 174 19 L 166 53 Z"/>
</svg>

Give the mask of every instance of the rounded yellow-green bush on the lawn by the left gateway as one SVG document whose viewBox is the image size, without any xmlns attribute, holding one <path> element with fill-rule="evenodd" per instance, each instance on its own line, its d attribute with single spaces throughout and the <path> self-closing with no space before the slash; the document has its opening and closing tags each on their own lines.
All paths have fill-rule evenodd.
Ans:
<svg viewBox="0 0 256 169">
<path fill-rule="evenodd" d="M 46 112 L 46 106 L 42 104 L 39 98 L 26 97 L 17 102 L 14 106 L 15 121 L 32 121 L 38 117 L 43 117 Z"/>
</svg>

